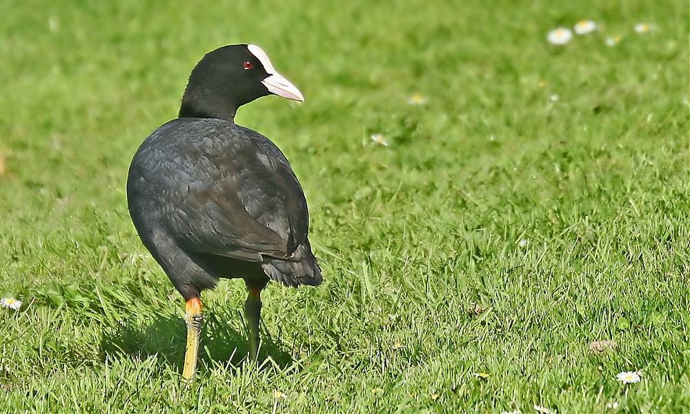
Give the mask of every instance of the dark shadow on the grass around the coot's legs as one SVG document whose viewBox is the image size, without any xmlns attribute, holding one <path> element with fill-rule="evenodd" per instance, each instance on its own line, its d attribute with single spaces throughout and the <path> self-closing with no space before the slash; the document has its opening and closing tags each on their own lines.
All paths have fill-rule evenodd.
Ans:
<svg viewBox="0 0 690 414">
<path fill-rule="evenodd" d="M 201 348 L 199 349 L 199 370 L 216 364 L 239 366 L 249 355 L 249 345 L 246 335 L 238 333 L 226 322 L 226 313 L 206 313 L 201 333 Z M 101 359 L 135 355 L 141 358 L 155 356 L 161 365 L 172 366 L 180 373 L 184 360 L 186 344 L 186 326 L 179 317 L 157 316 L 151 324 L 141 328 L 135 325 L 120 325 L 104 331 L 101 335 Z M 262 332 L 262 346 L 259 358 L 273 359 L 280 368 L 290 365 L 293 360 L 289 353 L 282 351 L 279 344 Z"/>
</svg>

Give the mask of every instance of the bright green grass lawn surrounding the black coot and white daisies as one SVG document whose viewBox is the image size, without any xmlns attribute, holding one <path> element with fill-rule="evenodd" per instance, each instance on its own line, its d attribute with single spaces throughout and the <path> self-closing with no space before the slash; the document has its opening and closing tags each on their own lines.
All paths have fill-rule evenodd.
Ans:
<svg viewBox="0 0 690 414">
<path fill-rule="evenodd" d="M 0 295 L 24 302 L 0 308 L 0 411 L 690 410 L 687 2 L 110 3 L 0 4 Z M 244 284 L 205 293 L 187 389 L 126 172 L 239 42 L 306 97 L 237 122 L 293 164 L 326 282 L 270 284 L 260 370 Z"/>
</svg>

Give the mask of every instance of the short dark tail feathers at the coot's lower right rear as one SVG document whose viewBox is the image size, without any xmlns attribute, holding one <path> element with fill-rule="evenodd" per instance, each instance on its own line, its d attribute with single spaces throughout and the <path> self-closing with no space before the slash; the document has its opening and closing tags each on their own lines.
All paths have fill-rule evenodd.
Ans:
<svg viewBox="0 0 690 414">
<path fill-rule="evenodd" d="M 308 240 L 300 244 L 287 259 L 264 256 L 262 268 L 268 277 L 285 286 L 316 286 L 322 282 L 321 268 L 311 253 Z"/>
</svg>

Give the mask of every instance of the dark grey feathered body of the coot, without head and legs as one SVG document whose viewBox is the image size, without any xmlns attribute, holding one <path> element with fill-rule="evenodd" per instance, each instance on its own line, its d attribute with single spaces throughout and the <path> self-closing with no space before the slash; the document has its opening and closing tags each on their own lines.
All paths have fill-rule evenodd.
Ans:
<svg viewBox="0 0 690 414">
<path fill-rule="evenodd" d="M 185 299 L 219 277 L 322 280 L 302 187 L 282 152 L 253 130 L 224 119 L 168 122 L 137 151 L 127 195 L 141 241 Z"/>
</svg>

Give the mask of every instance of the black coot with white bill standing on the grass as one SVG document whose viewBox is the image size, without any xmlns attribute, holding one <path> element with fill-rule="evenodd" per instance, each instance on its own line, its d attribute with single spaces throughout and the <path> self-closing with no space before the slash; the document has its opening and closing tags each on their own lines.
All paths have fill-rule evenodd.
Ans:
<svg viewBox="0 0 690 414">
<path fill-rule="evenodd" d="M 202 290 L 220 277 L 244 279 L 255 361 L 268 280 L 322 281 L 307 238 L 306 199 L 288 160 L 268 138 L 234 122 L 237 108 L 272 94 L 304 101 L 258 46 L 209 52 L 192 70 L 177 119 L 155 130 L 130 166 L 132 221 L 186 300 L 187 380 L 197 366 Z"/>
</svg>

